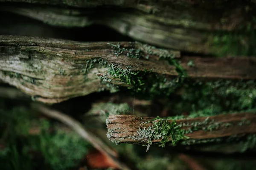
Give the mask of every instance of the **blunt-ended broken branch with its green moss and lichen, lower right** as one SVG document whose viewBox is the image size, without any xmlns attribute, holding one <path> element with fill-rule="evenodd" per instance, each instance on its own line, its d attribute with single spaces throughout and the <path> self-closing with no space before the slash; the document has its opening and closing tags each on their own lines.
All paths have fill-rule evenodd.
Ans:
<svg viewBox="0 0 256 170">
<path fill-rule="evenodd" d="M 172 142 L 175 145 L 177 142 L 187 139 L 194 141 L 219 139 L 256 133 L 256 114 L 232 113 L 178 120 L 133 115 L 109 115 L 107 127 L 108 138 L 116 144 L 131 143 L 150 146 L 152 143 Z"/>
</svg>

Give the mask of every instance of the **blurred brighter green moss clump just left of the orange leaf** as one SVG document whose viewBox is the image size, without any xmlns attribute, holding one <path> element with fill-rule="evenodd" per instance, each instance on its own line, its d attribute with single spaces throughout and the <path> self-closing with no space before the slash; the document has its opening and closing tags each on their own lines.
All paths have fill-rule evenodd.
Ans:
<svg viewBox="0 0 256 170">
<path fill-rule="evenodd" d="M 61 130 L 57 130 L 53 135 L 43 133 L 39 141 L 35 139 L 31 143 L 36 143 L 30 147 L 41 151 L 45 161 L 54 170 L 77 166 L 90 146 L 76 133 L 65 133 Z"/>
</svg>

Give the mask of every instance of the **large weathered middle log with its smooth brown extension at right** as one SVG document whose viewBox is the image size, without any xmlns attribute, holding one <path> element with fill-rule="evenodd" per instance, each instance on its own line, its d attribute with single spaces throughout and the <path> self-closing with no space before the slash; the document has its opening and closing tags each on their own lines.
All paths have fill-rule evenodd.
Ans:
<svg viewBox="0 0 256 170">
<path fill-rule="evenodd" d="M 33 99 L 56 103 L 96 91 L 111 90 L 108 86 L 111 84 L 131 86 L 124 80 L 111 77 L 110 68 L 128 72 L 147 70 L 150 71 L 148 74 L 158 74 L 167 79 L 178 75 L 176 67 L 166 61 L 173 57 L 178 59 L 178 51 L 138 42 L 120 42 L 120 46 L 117 42 L 111 43 L 116 47 L 107 42 L 0 36 L 0 80 L 34 96 Z M 187 65 L 190 60 L 194 66 Z M 255 63 L 253 57 L 181 58 L 181 66 L 191 78 L 255 79 Z"/>
</svg>

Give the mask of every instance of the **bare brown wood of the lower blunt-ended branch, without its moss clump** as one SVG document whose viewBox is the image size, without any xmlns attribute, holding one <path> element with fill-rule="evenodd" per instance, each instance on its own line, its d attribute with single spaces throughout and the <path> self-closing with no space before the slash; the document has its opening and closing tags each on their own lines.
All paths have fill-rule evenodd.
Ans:
<svg viewBox="0 0 256 170">
<path fill-rule="evenodd" d="M 139 117 L 133 115 L 109 115 L 107 120 L 108 138 L 116 143 L 132 143 L 146 144 L 148 139 L 139 139 L 138 131 L 147 129 L 154 125 L 153 118 Z M 207 123 L 205 122 L 207 120 Z M 142 122 L 148 122 L 143 123 Z M 154 120 L 158 121 L 158 120 Z M 244 122 L 243 122 L 244 121 Z M 168 120 L 172 122 L 172 120 Z M 199 123 L 198 123 L 199 122 Z M 201 125 L 199 125 L 201 122 Z M 224 114 L 208 117 L 197 117 L 193 119 L 178 119 L 177 125 L 182 125 L 181 129 L 193 129 L 195 124 L 198 124 L 196 130 L 192 130 L 185 134 L 189 139 L 214 139 L 239 135 L 244 133 L 256 133 L 256 114 L 254 113 L 236 113 Z M 208 127 L 214 127 L 211 130 Z M 208 130 L 207 130 L 208 129 Z M 169 140 L 172 140 L 169 138 Z M 160 142 L 161 139 L 152 140 L 153 143 Z"/>
</svg>

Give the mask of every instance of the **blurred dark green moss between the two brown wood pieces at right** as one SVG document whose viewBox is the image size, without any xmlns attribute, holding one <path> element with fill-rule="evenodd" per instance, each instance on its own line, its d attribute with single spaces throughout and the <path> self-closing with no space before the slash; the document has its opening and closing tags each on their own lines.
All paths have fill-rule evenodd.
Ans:
<svg viewBox="0 0 256 170">
<path fill-rule="evenodd" d="M 255 81 L 185 81 L 181 95 L 172 94 L 168 103 L 173 115 L 189 113 L 189 117 L 253 111 L 256 108 Z"/>
</svg>

